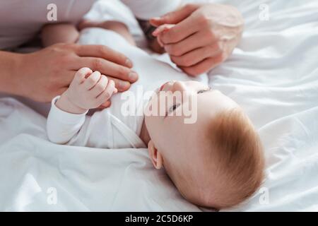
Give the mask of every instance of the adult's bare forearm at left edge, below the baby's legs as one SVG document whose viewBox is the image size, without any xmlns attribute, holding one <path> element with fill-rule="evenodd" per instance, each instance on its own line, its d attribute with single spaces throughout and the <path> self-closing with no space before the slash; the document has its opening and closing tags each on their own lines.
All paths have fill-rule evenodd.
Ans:
<svg viewBox="0 0 318 226">
<path fill-rule="evenodd" d="M 22 54 L 0 51 L 0 92 L 20 95 L 16 71 L 18 71 L 21 56 Z"/>
</svg>

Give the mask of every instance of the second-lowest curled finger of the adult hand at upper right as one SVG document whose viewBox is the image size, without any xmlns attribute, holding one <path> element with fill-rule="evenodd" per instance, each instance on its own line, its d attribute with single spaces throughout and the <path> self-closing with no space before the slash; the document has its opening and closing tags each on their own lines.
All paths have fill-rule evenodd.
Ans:
<svg viewBox="0 0 318 226">
<path fill-rule="evenodd" d="M 220 54 L 220 52 L 221 49 L 218 47 L 218 43 L 215 42 L 206 47 L 194 49 L 193 51 L 187 52 L 180 57 L 171 56 L 170 58 L 175 64 L 177 64 L 177 66 L 189 67 L 198 64 L 208 57 L 214 57 Z"/>
</svg>

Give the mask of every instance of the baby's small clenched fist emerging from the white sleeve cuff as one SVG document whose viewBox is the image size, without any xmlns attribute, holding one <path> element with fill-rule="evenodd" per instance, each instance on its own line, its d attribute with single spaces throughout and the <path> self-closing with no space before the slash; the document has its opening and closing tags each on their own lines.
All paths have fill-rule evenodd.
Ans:
<svg viewBox="0 0 318 226">
<path fill-rule="evenodd" d="M 66 112 L 81 114 L 88 109 L 100 107 L 114 93 L 117 93 L 114 81 L 108 80 L 99 71 L 83 68 L 76 72 L 69 89 L 57 102 L 57 107 Z"/>
</svg>

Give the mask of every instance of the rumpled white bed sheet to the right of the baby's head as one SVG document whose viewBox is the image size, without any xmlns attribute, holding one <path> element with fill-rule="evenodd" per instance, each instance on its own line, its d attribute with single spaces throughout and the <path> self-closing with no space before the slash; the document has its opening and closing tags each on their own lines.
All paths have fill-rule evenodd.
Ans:
<svg viewBox="0 0 318 226">
<path fill-rule="evenodd" d="M 318 210 L 318 1 L 225 2 L 246 31 L 210 84 L 244 107 L 266 154 L 264 184 L 236 210 Z"/>
</svg>

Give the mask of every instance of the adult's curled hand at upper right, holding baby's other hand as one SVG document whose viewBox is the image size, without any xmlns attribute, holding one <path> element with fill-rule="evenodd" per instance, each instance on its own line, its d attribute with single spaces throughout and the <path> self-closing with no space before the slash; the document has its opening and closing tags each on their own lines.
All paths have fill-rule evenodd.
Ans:
<svg viewBox="0 0 318 226">
<path fill-rule="evenodd" d="M 188 4 L 150 22 L 156 27 L 175 24 L 160 34 L 160 41 L 171 60 L 192 76 L 228 59 L 240 42 L 244 25 L 236 8 L 221 4 Z"/>
</svg>

